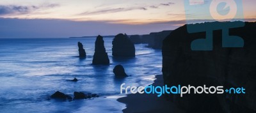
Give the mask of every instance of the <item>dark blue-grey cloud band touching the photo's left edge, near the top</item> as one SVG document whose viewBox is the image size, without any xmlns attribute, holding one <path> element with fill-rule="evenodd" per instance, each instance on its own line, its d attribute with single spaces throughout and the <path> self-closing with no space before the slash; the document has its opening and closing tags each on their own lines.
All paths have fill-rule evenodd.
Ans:
<svg viewBox="0 0 256 113">
<path fill-rule="evenodd" d="M 0 5 L 0 15 L 26 14 L 35 10 L 54 8 L 56 6 L 58 6 L 58 4 L 42 4 L 40 6 Z"/>
</svg>

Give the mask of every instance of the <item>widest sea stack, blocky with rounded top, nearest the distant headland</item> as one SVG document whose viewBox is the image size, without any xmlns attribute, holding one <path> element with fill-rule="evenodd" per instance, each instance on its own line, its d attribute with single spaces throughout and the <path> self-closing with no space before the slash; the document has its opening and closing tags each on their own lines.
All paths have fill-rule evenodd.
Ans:
<svg viewBox="0 0 256 113">
<path fill-rule="evenodd" d="M 134 43 L 127 34 L 117 34 L 112 41 L 112 55 L 114 57 L 135 57 Z"/>
</svg>

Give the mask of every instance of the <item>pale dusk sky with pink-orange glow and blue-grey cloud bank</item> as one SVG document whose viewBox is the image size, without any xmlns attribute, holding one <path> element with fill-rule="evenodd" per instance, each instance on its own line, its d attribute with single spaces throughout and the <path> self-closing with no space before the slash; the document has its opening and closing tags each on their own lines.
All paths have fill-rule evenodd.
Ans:
<svg viewBox="0 0 256 113">
<path fill-rule="evenodd" d="M 210 0 L 1 0 L 0 38 L 149 34 L 176 29 L 188 19 L 193 22 L 211 19 L 195 15 L 207 10 L 191 10 L 186 1 L 197 4 L 195 8 L 211 4 Z M 240 1 L 237 6 L 232 2 L 230 7 L 223 4 L 223 13 L 241 6 L 243 16 L 239 18 L 255 21 L 256 1 Z"/>
</svg>

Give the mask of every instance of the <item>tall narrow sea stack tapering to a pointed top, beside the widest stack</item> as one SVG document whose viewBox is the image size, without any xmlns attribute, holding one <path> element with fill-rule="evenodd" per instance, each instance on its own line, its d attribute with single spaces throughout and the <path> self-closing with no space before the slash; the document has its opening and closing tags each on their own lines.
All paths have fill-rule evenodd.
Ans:
<svg viewBox="0 0 256 113">
<path fill-rule="evenodd" d="M 108 53 L 104 47 L 104 40 L 100 35 L 97 36 L 95 41 L 95 52 L 92 64 L 109 64 Z"/>
</svg>

